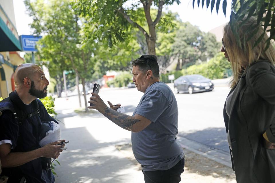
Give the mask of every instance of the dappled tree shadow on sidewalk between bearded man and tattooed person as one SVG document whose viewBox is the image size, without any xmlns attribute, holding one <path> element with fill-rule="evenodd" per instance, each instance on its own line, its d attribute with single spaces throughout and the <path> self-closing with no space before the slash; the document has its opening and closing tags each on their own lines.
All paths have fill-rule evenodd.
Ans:
<svg viewBox="0 0 275 183">
<path fill-rule="evenodd" d="M 113 145 L 123 140 L 99 143 L 85 127 L 64 129 L 62 138 L 70 143 L 58 158 L 61 166 L 57 165 L 55 169 L 57 183 L 122 183 L 127 182 L 129 176 L 133 176 L 131 171 L 135 165 L 121 156 Z"/>
</svg>

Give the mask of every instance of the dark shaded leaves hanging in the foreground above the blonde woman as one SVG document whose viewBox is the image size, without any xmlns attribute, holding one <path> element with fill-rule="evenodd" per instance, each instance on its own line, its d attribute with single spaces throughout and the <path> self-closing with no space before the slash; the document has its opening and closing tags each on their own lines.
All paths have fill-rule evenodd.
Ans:
<svg viewBox="0 0 275 183">
<path fill-rule="evenodd" d="M 211 7 L 211 12 L 214 7 L 216 7 L 216 11 L 218 13 L 220 9 L 221 0 L 212 0 L 210 6 L 210 0 L 197 0 L 197 5 L 201 6 L 206 4 L 206 7 Z M 195 0 L 193 0 L 193 7 L 195 6 Z M 227 2 L 223 0 L 222 9 L 224 15 L 226 15 L 226 7 Z M 245 43 L 249 41 L 257 32 L 257 27 L 259 25 L 264 26 L 264 30 L 270 33 L 269 39 L 266 41 L 266 49 L 270 45 L 270 41 L 275 39 L 275 1 L 274 0 L 232 0 L 231 3 L 231 15 L 230 15 L 230 27 L 237 39 L 238 45 L 241 47 L 241 43 Z M 251 16 L 257 17 L 257 24 L 251 25 L 246 34 L 248 35 L 247 40 L 245 36 L 239 37 L 237 30 L 240 26 L 242 26 Z M 237 22 L 241 21 L 241 24 L 237 24 Z M 264 33 L 258 38 L 255 45 L 257 45 L 264 37 Z"/>
</svg>

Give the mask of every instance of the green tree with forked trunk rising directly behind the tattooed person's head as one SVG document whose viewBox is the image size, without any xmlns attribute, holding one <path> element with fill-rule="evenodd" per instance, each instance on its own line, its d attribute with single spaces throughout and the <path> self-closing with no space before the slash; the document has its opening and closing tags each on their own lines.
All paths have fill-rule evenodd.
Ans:
<svg viewBox="0 0 275 183">
<path fill-rule="evenodd" d="M 173 26 L 171 13 L 162 16 L 162 8 L 179 0 L 140 0 L 125 7 L 127 0 L 76 0 L 80 14 L 97 32 L 95 39 L 107 39 L 109 46 L 123 42 L 131 37 L 131 30 L 137 28 L 145 36 L 148 53 L 156 55 L 156 30 L 165 30 Z M 142 8 L 139 8 L 142 5 Z M 152 15 L 152 7 L 157 8 L 157 14 Z M 144 22 L 146 21 L 146 25 Z M 88 35 L 88 34 L 86 34 Z"/>
</svg>

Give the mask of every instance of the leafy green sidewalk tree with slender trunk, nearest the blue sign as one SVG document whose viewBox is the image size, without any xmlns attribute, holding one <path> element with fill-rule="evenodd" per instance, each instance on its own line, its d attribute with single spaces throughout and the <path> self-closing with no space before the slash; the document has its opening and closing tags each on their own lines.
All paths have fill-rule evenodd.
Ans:
<svg viewBox="0 0 275 183">
<path fill-rule="evenodd" d="M 53 55 L 50 57 L 53 58 L 52 61 L 56 61 L 56 66 L 67 65 L 75 71 L 82 81 L 87 111 L 85 78 L 89 78 L 94 73 L 95 59 L 91 56 L 94 46 L 91 42 L 84 43 L 83 20 L 76 14 L 71 3 L 72 0 L 25 0 L 29 15 L 33 18 L 31 27 L 34 29 L 34 34 L 46 35 L 40 49 L 41 55 L 54 54 L 56 58 Z M 44 46 L 48 47 L 47 49 L 52 53 L 43 49 Z M 48 56 L 45 59 L 48 59 Z M 60 73 L 60 70 L 58 71 Z"/>
</svg>

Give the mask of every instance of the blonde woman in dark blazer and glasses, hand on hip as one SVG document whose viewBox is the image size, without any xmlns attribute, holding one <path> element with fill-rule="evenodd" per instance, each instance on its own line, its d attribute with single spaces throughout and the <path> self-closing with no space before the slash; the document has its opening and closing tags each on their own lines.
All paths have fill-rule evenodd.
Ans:
<svg viewBox="0 0 275 183">
<path fill-rule="evenodd" d="M 239 37 L 248 37 L 251 24 L 256 24 L 254 17 L 239 28 Z M 275 182 L 275 49 L 271 44 L 264 51 L 267 34 L 253 47 L 263 32 L 259 26 L 239 47 L 230 25 L 224 27 L 221 51 L 231 63 L 233 78 L 223 114 L 232 168 L 240 183 Z"/>
</svg>

